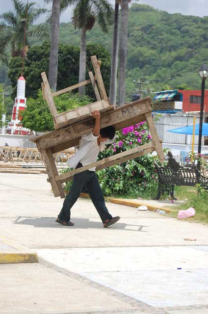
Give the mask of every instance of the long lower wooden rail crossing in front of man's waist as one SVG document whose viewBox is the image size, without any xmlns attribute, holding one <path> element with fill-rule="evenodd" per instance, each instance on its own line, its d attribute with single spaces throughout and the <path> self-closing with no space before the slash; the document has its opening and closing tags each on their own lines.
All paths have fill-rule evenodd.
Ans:
<svg viewBox="0 0 208 314">
<path fill-rule="evenodd" d="M 144 151 L 145 149 L 148 149 L 148 148 L 152 148 L 153 146 L 154 146 L 153 142 L 147 143 L 147 144 L 144 144 L 144 145 L 141 145 L 141 146 L 137 146 L 137 147 L 132 148 L 132 149 L 130 149 L 128 151 L 125 151 L 125 152 L 122 152 L 122 153 L 119 153 L 119 154 L 116 154 L 116 155 L 104 158 L 102 160 L 93 162 L 93 163 L 91 163 L 89 165 L 86 165 L 86 166 L 80 167 L 78 169 L 75 169 L 75 170 L 63 173 L 62 175 L 58 175 L 58 176 L 55 177 L 55 181 L 58 182 L 58 181 L 60 181 L 62 179 L 68 179 L 68 178 L 70 178 L 71 176 L 73 176 L 73 175 L 75 175 L 77 173 L 83 172 L 83 171 L 88 170 L 90 168 L 94 168 L 94 167 L 98 167 L 100 165 L 107 164 L 107 163 L 109 163 L 111 161 L 115 161 L 116 159 L 120 159 L 122 157 L 130 156 L 130 155 L 132 155 L 134 153 Z"/>
</svg>

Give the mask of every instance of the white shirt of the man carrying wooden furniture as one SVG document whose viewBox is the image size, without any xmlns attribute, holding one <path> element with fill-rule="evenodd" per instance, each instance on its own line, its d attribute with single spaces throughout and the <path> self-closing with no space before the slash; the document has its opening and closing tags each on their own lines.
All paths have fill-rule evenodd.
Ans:
<svg viewBox="0 0 208 314">
<path fill-rule="evenodd" d="M 92 132 L 83 135 L 79 141 L 79 147 L 75 155 L 68 159 L 67 163 L 71 168 L 76 168 L 78 163 L 81 162 L 83 166 L 97 161 L 98 155 L 105 149 L 105 144 L 113 143 L 116 136 L 113 139 L 106 142 L 100 142 L 98 145 L 98 137 L 93 135 Z M 96 167 L 89 169 L 95 171 Z"/>
</svg>

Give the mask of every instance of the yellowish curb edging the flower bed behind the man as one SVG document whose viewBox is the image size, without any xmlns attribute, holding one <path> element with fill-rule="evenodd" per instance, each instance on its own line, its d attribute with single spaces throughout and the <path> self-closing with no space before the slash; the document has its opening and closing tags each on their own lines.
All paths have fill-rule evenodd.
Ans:
<svg viewBox="0 0 208 314">
<path fill-rule="evenodd" d="M 80 193 L 80 196 L 87 197 L 87 198 L 90 197 L 89 194 L 87 193 Z M 125 205 L 125 206 L 136 207 L 136 208 L 142 205 L 146 205 L 147 208 L 151 211 L 156 211 L 156 209 L 160 209 L 160 210 L 165 211 L 166 213 L 173 212 L 172 209 L 167 209 L 167 208 L 156 206 L 156 205 L 150 205 L 142 201 L 132 201 L 132 200 L 127 200 L 127 199 L 122 199 L 122 198 L 110 198 L 110 197 L 105 197 L 105 199 L 111 203 L 119 204 L 119 205 Z"/>
</svg>

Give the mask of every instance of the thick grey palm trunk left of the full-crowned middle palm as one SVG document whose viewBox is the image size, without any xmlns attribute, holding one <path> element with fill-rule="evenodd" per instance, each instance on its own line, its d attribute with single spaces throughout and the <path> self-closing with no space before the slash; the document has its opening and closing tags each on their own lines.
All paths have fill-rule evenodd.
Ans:
<svg viewBox="0 0 208 314">
<path fill-rule="evenodd" d="M 51 51 L 49 60 L 49 85 L 56 91 L 58 73 L 58 37 L 59 37 L 60 0 L 52 2 Z"/>
</svg>

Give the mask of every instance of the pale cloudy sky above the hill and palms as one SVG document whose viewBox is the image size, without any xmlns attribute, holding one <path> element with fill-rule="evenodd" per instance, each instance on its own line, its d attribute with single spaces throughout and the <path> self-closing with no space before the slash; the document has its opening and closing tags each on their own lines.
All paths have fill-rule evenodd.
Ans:
<svg viewBox="0 0 208 314">
<path fill-rule="evenodd" d="M 30 0 L 31 1 L 31 0 Z M 40 7 L 50 7 L 44 0 L 33 0 Z M 22 0 L 26 2 L 26 0 Z M 109 0 L 114 4 L 115 0 Z M 133 2 L 133 1 L 132 1 Z M 167 11 L 169 13 L 181 13 L 184 15 L 208 16 L 208 0 L 139 0 L 138 3 L 149 4 L 154 8 Z M 12 0 L 0 0 L 0 14 L 12 9 Z M 60 18 L 60 22 L 69 22 L 72 8 L 67 9 Z M 37 22 L 43 22 L 41 20 Z"/>
</svg>

